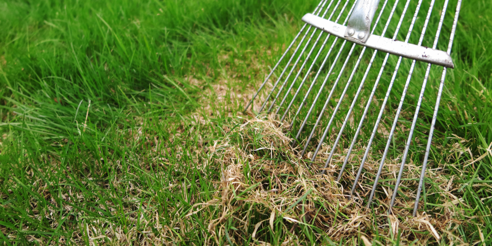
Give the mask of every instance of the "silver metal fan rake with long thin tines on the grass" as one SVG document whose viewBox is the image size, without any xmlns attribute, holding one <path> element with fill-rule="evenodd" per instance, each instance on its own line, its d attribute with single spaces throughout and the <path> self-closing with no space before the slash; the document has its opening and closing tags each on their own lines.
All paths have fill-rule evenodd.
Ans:
<svg viewBox="0 0 492 246">
<path fill-rule="evenodd" d="M 381 3 L 380 0 L 358 0 L 358 1 L 356 0 L 356 2 L 352 2 L 352 1 L 353 0 L 322 0 L 321 2 L 319 2 L 319 4 L 317 5 L 317 7 L 312 13 L 308 13 L 302 18 L 302 20 L 306 24 L 301 28 L 301 31 L 299 31 L 299 33 L 295 36 L 292 43 L 285 50 L 285 52 L 283 53 L 277 64 L 273 67 L 270 74 L 268 74 L 264 82 L 261 84 L 258 91 L 252 96 L 251 100 L 249 101 L 249 103 L 245 108 L 245 111 L 249 108 L 250 105 L 252 105 L 253 101 L 258 96 L 258 94 L 262 92 L 262 89 L 265 88 L 267 82 L 275 78 L 275 83 L 273 83 L 273 85 L 272 83 L 268 83 L 268 85 L 271 86 L 271 90 L 269 92 L 263 92 L 266 95 L 266 99 L 262 103 L 261 107 L 257 109 L 258 115 L 261 113 L 270 114 L 271 112 L 273 112 L 273 110 L 275 110 L 274 115 L 278 116 L 280 118 L 280 122 L 282 123 L 286 120 L 286 117 L 288 116 L 289 119 L 291 120 L 289 127 L 291 130 L 294 130 L 292 133 L 295 133 L 295 141 L 293 141 L 292 146 L 295 146 L 296 144 L 299 143 L 304 143 L 304 148 L 301 152 L 302 156 L 306 154 L 306 151 L 310 146 L 310 142 L 313 136 L 316 134 L 316 132 L 322 130 L 320 140 L 317 144 L 315 151 L 312 154 L 312 157 L 310 158 L 311 163 L 314 162 L 318 152 L 320 151 L 327 137 L 330 136 L 333 136 L 334 138 L 336 137 L 334 143 L 331 146 L 331 151 L 330 154 L 328 155 L 328 158 L 326 159 L 324 168 L 322 169 L 322 173 L 324 174 L 329 163 L 332 161 L 333 155 L 335 154 L 335 150 L 337 149 L 340 140 L 345 141 L 343 137 L 347 136 L 347 134 L 345 134 L 347 133 L 346 126 L 347 124 L 350 124 L 349 122 L 351 121 L 351 117 L 353 118 L 354 108 L 357 106 L 356 104 L 359 96 L 361 95 L 361 92 L 364 92 L 363 88 L 365 82 L 368 80 L 371 67 L 374 62 L 378 63 L 381 60 L 378 59 L 377 53 L 378 52 L 386 53 L 384 60 L 381 62 L 379 73 L 375 78 L 375 82 L 370 91 L 369 96 L 366 98 L 361 98 L 361 102 L 360 102 L 361 105 L 364 105 L 362 99 L 366 100 L 367 102 L 365 103 L 364 110 L 361 111 L 362 115 L 360 116 L 360 121 L 357 125 L 355 132 L 353 132 L 353 137 L 352 140 L 350 141 L 348 152 L 344 158 L 343 164 L 338 173 L 337 181 L 339 181 L 340 178 L 342 177 L 343 171 L 349 160 L 350 154 L 352 153 L 354 145 L 358 141 L 361 128 L 363 128 L 364 125 L 366 124 L 370 125 L 371 123 L 373 123 L 373 128 L 372 131 L 370 132 L 370 137 L 366 144 L 367 147 L 365 153 L 362 157 L 362 161 L 358 168 L 358 172 L 355 177 L 354 184 L 352 185 L 352 188 L 350 190 L 350 196 L 353 197 L 353 193 L 358 184 L 359 178 L 362 174 L 364 164 L 368 158 L 371 149 L 371 144 L 373 144 L 375 137 L 378 135 L 378 128 L 381 127 L 380 124 L 382 121 L 382 117 L 385 114 L 386 111 L 385 108 L 388 106 L 387 105 L 388 99 L 390 97 L 395 81 L 397 80 L 398 77 L 397 74 L 400 69 L 400 64 L 402 62 L 402 59 L 403 58 L 409 59 L 408 61 L 411 61 L 411 65 L 408 70 L 408 76 L 405 79 L 405 84 L 402 88 L 402 93 L 398 104 L 398 108 L 396 108 L 394 120 L 391 124 L 391 130 L 387 134 L 384 152 L 382 154 L 381 160 L 379 161 L 377 174 L 375 176 L 374 184 L 372 186 L 368 199 L 367 206 L 369 207 L 373 199 L 374 192 L 376 190 L 379 176 L 381 175 L 381 171 L 385 159 L 388 155 L 390 145 L 392 141 L 394 141 L 393 140 L 394 133 L 399 122 L 399 117 L 403 108 L 405 95 L 408 92 L 412 74 L 415 70 L 416 62 L 417 61 L 422 62 L 421 64 L 423 64 L 422 65 L 423 67 L 427 65 L 425 76 L 422 82 L 422 87 L 420 89 L 418 100 L 415 105 L 415 113 L 411 121 L 408 137 L 405 142 L 403 154 L 401 156 L 401 164 L 398 173 L 398 178 L 395 183 L 395 188 L 393 189 L 393 195 L 389 206 L 389 212 L 392 213 L 392 208 L 394 206 L 395 198 L 398 192 L 398 187 L 401 181 L 401 175 L 405 166 L 410 145 L 412 143 L 412 136 L 416 128 L 419 110 L 421 108 L 421 104 L 424 98 L 424 92 L 430 77 L 431 64 L 442 66 L 442 74 L 440 76 L 437 99 L 435 101 L 431 125 L 429 127 L 429 136 L 428 136 L 427 146 L 425 149 L 424 159 L 422 161 L 422 171 L 420 173 L 420 180 L 419 180 L 418 190 L 416 193 L 416 198 L 414 203 L 413 215 L 415 216 L 417 213 L 420 193 L 422 191 L 422 185 L 424 183 L 426 166 L 431 149 L 432 135 L 437 118 L 437 112 L 438 112 L 439 102 L 441 99 L 441 94 L 444 86 L 444 81 L 446 78 L 446 71 L 448 68 L 454 68 L 454 64 L 451 60 L 450 53 L 451 53 L 451 47 L 453 45 L 453 38 L 456 31 L 456 25 L 458 22 L 458 16 L 460 13 L 461 0 L 456 1 L 456 11 L 454 17 L 452 17 L 452 15 L 448 17 L 453 19 L 453 24 L 449 32 L 447 51 L 438 50 L 437 44 L 438 44 L 439 36 L 441 35 L 444 19 L 446 17 L 449 0 L 443 0 L 442 9 L 439 9 L 440 12 L 435 17 L 435 18 L 438 17 L 439 21 L 437 23 L 437 29 L 435 31 L 435 35 L 433 39 L 430 38 L 426 39 L 427 36 L 425 34 L 428 29 L 429 22 L 431 21 L 434 5 L 437 5 L 435 4 L 435 0 L 430 0 L 426 2 L 426 4 L 429 3 L 429 8 L 421 8 L 423 2 L 422 0 L 417 0 L 415 11 L 413 16 L 411 17 L 411 20 L 408 20 L 408 18 L 410 17 L 409 15 L 405 19 L 407 10 L 410 8 L 409 6 L 411 0 L 406 0 L 404 2 L 404 5 L 403 5 L 404 0 L 402 0 L 400 4 L 399 4 L 400 0 L 394 0 L 391 8 L 387 8 L 387 5 L 391 5 L 388 4 L 388 0 L 383 0 L 381 1 Z M 349 4 L 350 2 L 352 2 L 352 4 Z M 441 5 L 441 3 L 438 5 Z M 401 10 L 401 6 L 403 6 L 402 10 Z M 374 21 L 374 24 L 372 25 L 377 9 L 379 9 L 378 15 Z M 396 10 L 401 11 L 400 17 L 395 15 L 395 12 L 397 12 Z M 412 39 L 412 34 L 413 34 L 416 20 L 420 18 L 419 13 L 421 11 L 423 13 L 425 11 L 425 20 L 424 23 L 421 25 L 422 30 L 420 32 L 420 37 L 418 38 L 417 41 L 415 40 L 416 38 Z M 379 21 L 385 18 L 387 19 L 385 26 L 379 27 L 378 26 Z M 394 33 L 392 37 L 388 38 L 385 37 L 385 35 L 387 35 L 386 32 L 388 31 L 388 29 L 392 29 L 394 26 L 394 25 L 393 26 L 390 25 L 393 18 L 398 19 L 398 24 L 396 25 L 396 28 L 394 28 Z M 333 19 L 335 20 L 332 21 Z M 342 24 L 338 24 L 340 20 L 343 20 Z M 399 31 L 402 24 L 408 25 L 408 31 L 406 33 L 404 41 L 399 41 L 397 37 L 399 35 Z M 390 26 L 392 28 L 389 28 Z M 381 31 L 378 33 L 378 35 L 376 35 L 374 34 L 375 30 L 378 31 L 381 30 Z M 324 39 L 322 39 L 323 36 Z M 301 39 L 299 40 L 300 37 Z M 322 43 L 320 43 L 320 40 L 323 40 Z M 328 49 L 326 49 L 326 47 L 328 47 L 327 44 L 329 43 L 329 40 L 332 41 L 332 44 Z M 410 40 L 415 40 L 417 42 L 412 44 Z M 341 44 L 339 43 L 340 41 L 342 41 Z M 423 46 L 424 41 L 428 43 L 432 43 L 432 47 Z M 349 50 L 345 49 L 347 43 L 352 43 L 352 46 L 350 47 Z M 366 59 L 364 60 L 364 62 L 361 62 L 363 61 L 364 54 L 367 51 L 368 47 L 372 50 L 372 56 L 370 57 L 370 60 L 367 63 L 367 68 L 365 69 L 364 75 L 360 80 L 361 82 L 355 94 L 348 95 L 347 91 L 349 90 L 350 85 L 354 80 L 354 78 L 360 77 L 358 74 L 359 66 L 361 65 L 361 63 L 366 63 L 367 62 L 366 60 L 368 60 Z M 336 49 L 338 49 L 338 53 L 333 54 L 332 53 L 333 50 Z M 354 55 L 354 53 L 357 52 L 360 53 L 359 57 L 357 59 L 355 58 L 352 59 L 352 55 Z M 315 55 L 313 56 L 313 54 Z M 346 57 L 343 64 L 341 64 L 340 67 L 338 60 L 341 57 L 343 57 L 344 54 L 346 55 Z M 390 57 L 390 54 L 398 57 L 398 62 L 396 62 L 396 64 L 394 62 L 394 59 Z M 289 55 L 290 55 L 290 59 L 286 62 L 284 59 L 286 59 Z M 323 56 L 324 59 L 322 61 L 321 60 L 318 61 L 318 59 Z M 381 55 L 379 57 L 381 57 Z M 389 60 L 390 62 L 388 62 Z M 293 61 L 294 63 L 292 63 Z M 307 67 L 309 63 L 310 65 Z M 389 65 L 389 63 L 391 65 Z M 330 64 L 329 68 L 325 68 L 325 65 L 327 64 Z M 378 89 L 379 82 L 381 81 L 382 78 L 385 78 L 387 76 L 386 74 L 391 72 L 391 69 L 390 71 L 385 71 L 385 67 L 393 66 L 393 64 L 394 64 L 394 69 L 393 72 L 391 73 L 392 74 L 391 80 L 389 83 L 385 84 L 387 86 L 387 91 L 385 93 L 384 99 L 380 104 L 380 110 L 377 115 L 377 118 L 375 119 L 374 122 L 365 123 L 365 120 L 368 118 L 368 113 L 369 113 L 369 109 L 371 108 L 371 103 L 373 102 L 375 93 Z M 279 66 L 283 66 L 283 69 L 281 69 L 281 71 Z M 348 73 L 345 74 L 346 73 L 345 68 L 350 66 L 353 66 L 353 68 L 352 71 L 350 72 L 350 75 L 347 78 Z M 334 79 L 332 75 L 336 74 L 336 72 L 334 72 L 335 68 L 339 69 L 339 72 L 335 81 L 332 81 Z M 314 75 L 313 71 L 316 70 L 317 72 Z M 314 75 L 314 77 L 312 75 Z M 322 81 L 321 85 L 319 85 L 319 82 L 316 83 L 317 80 L 321 79 L 323 76 L 325 78 Z M 299 82 L 300 77 L 302 77 L 302 80 L 300 80 Z M 345 80 L 345 79 L 347 79 L 347 82 L 342 92 L 339 93 L 340 96 L 338 101 L 334 100 L 332 98 L 334 96 L 334 92 L 339 91 L 337 90 L 338 83 L 340 82 L 340 80 Z M 307 85 L 309 85 L 308 88 Z M 331 89 L 327 89 L 328 85 L 331 85 Z M 293 89 L 295 88 L 297 89 L 294 92 Z M 315 92 L 316 89 L 318 92 L 315 95 L 312 94 L 312 92 Z M 329 90 L 329 92 L 326 90 Z M 304 97 L 301 99 L 301 97 L 298 96 L 302 94 L 304 94 Z M 343 110 L 341 109 L 342 108 L 341 105 L 346 97 L 351 99 L 352 102 L 347 110 Z M 325 103 L 323 104 L 323 107 L 320 108 L 319 103 L 322 102 L 322 99 L 325 99 Z M 312 100 L 312 102 L 309 108 L 307 109 L 307 102 L 310 100 Z M 334 107 L 333 107 L 334 105 L 333 101 L 337 102 L 336 106 Z M 288 105 L 286 104 L 287 102 Z M 295 107 L 297 107 L 297 110 L 295 110 Z M 373 105 L 373 108 L 374 107 L 376 106 Z M 302 112 L 303 109 L 307 109 L 307 113 Z M 332 114 L 329 117 L 328 123 L 326 123 L 324 129 L 323 128 L 318 129 L 318 126 L 320 126 L 322 124 L 322 121 L 325 120 L 326 118 L 324 117 L 324 113 L 325 111 L 327 111 L 327 109 L 332 110 Z M 302 123 L 297 124 L 298 123 L 297 118 L 300 117 L 301 115 L 304 115 L 304 120 L 302 121 Z M 312 120 L 313 120 L 313 116 L 315 115 L 317 115 L 317 118 L 313 123 Z M 334 121 L 336 121 L 335 118 L 337 115 L 344 116 L 343 122 L 341 124 L 334 123 Z M 312 128 L 310 130 L 310 133 L 306 141 L 299 142 L 301 135 L 303 134 L 303 132 L 306 133 L 308 132 L 306 130 L 307 127 L 310 125 L 312 125 Z M 338 128 L 338 133 L 337 131 L 334 131 L 337 128 Z M 336 134 L 331 133 L 332 131 L 334 131 L 334 133 Z"/>
</svg>

